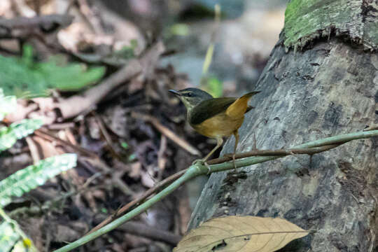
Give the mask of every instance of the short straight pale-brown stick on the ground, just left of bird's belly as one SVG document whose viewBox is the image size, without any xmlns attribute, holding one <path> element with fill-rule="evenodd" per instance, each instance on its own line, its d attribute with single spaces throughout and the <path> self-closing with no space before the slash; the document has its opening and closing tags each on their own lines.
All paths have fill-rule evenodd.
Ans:
<svg viewBox="0 0 378 252">
<path fill-rule="evenodd" d="M 139 118 L 150 122 L 157 130 L 159 130 L 166 137 L 174 141 L 175 144 L 188 151 L 192 155 L 201 155 L 200 151 L 197 150 L 194 146 L 190 145 L 187 141 L 178 137 L 172 130 L 169 130 L 167 127 L 162 125 L 159 120 L 153 116 L 145 115 L 141 113 L 132 112 L 132 117 Z"/>
</svg>

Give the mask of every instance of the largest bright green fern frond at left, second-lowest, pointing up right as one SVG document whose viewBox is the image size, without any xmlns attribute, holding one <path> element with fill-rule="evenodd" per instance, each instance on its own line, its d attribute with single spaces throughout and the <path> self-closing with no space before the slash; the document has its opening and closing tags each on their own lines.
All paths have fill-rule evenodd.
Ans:
<svg viewBox="0 0 378 252">
<path fill-rule="evenodd" d="M 0 207 L 12 202 L 12 197 L 41 186 L 48 179 L 76 166 L 76 154 L 63 154 L 41 160 L 0 181 Z"/>
</svg>

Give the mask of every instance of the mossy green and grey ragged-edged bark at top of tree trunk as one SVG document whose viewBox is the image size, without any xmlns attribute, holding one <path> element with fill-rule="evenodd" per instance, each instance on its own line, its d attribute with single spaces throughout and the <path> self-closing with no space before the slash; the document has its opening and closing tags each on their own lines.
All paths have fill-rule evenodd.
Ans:
<svg viewBox="0 0 378 252">
<path fill-rule="evenodd" d="M 316 38 L 346 36 L 364 48 L 378 49 L 378 1 L 292 0 L 285 12 L 283 44 L 302 49 Z"/>
</svg>

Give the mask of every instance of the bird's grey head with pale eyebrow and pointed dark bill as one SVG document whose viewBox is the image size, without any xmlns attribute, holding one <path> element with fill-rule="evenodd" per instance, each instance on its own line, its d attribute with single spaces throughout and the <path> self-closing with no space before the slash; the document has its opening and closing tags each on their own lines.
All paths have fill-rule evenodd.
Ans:
<svg viewBox="0 0 378 252">
<path fill-rule="evenodd" d="M 186 106 L 186 109 L 190 111 L 202 101 L 213 98 L 208 92 L 204 92 L 198 88 L 189 87 L 184 90 L 169 90 L 173 94 L 176 94 L 179 99 Z"/>
</svg>

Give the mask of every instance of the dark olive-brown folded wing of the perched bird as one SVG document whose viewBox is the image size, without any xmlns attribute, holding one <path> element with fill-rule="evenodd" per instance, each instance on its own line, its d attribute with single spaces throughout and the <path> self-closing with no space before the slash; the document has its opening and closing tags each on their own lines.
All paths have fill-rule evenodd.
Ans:
<svg viewBox="0 0 378 252">
<path fill-rule="evenodd" d="M 207 99 L 193 108 L 190 113 L 189 123 L 198 125 L 204 120 L 225 112 L 228 107 L 237 100 L 235 97 Z"/>
</svg>

